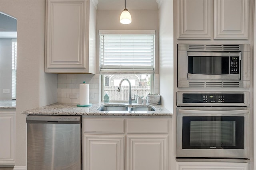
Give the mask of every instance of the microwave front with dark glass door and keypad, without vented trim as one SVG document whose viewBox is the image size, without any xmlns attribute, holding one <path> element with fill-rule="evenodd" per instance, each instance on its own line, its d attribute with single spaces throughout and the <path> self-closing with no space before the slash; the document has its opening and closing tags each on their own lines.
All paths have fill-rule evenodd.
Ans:
<svg viewBox="0 0 256 170">
<path fill-rule="evenodd" d="M 240 80 L 240 52 L 187 53 L 188 80 Z"/>
</svg>

